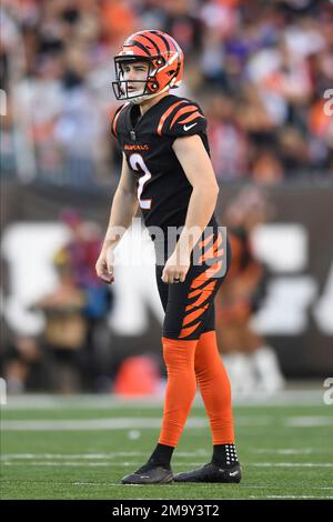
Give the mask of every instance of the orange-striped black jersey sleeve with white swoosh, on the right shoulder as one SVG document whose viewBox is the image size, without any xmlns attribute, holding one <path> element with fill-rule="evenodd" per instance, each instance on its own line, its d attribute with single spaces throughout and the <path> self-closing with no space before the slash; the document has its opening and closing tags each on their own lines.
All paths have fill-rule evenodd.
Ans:
<svg viewBox="0 0 333 522">
<path fill-rule="evenodd" d="M 199 104 L 190 100 L 173 103 L 162 116 L 158 129 L 160 135 L 173 139 L 205 131 L 206 119 Z"/>
</svg>

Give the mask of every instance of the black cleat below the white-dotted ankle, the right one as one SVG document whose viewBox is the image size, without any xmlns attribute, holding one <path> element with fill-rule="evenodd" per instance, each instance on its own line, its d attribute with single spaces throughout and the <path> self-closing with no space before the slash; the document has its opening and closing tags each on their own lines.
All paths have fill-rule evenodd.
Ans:
<svg viewBox="0 0 333 522">
<path fill-rule="evenodd" d="M 221 465 L 210 462 L 194 471 L 185 471 L 178 473 L 173 480 L 175 482 L 223 482 L 238 483 L 241 482 L 241 465 L 235 464 L 231 468 L 222 468 Z"/>
</svg>

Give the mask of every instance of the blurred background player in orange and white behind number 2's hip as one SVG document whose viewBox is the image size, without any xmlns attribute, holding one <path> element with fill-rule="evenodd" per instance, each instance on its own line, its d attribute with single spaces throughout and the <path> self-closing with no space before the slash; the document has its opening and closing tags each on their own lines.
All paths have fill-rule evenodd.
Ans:
<svg viewBox="0 0 333 522">
<path fill-rule="evenodd" d="M 232 267 L 215 299 L 216 338 L 233 393 L 273 394 L 284 387 L 274 349 L 255 331 L 253 315 L 266 297 L 268 267 L 258 259 L 253 234 L 273 213 L 262 190 L 245 187 L 229 202 L 228 225 Z"/>
</svg>

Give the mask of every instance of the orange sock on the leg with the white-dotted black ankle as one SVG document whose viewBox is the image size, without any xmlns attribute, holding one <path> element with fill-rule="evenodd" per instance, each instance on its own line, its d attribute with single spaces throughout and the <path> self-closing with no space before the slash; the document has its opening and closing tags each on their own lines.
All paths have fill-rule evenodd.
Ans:
<svg viewBox="0 0 333 522">
<path fill-rule="evenodd" d="M 200 335 L 194 364 L 200 392 L 211 424 L 213 444 L 233 444 L 231 388 L 219 354 L 214 331 Z"/>
</svg>

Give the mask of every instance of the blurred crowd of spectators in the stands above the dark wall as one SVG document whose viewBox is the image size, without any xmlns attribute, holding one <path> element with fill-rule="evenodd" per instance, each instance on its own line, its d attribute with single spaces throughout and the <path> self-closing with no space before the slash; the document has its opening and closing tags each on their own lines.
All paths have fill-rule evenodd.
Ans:
<svg viewBox="0 0 333 522">
<path fill-rule="evenodd" d="M 2 0 L 2 169 L 26 182 L 117 181 L 112 57 L 158 28 L 185 53 L 220 180 L 280 183 L 333 171 L 333 3 L 322 0 Z"/>
</svg>

